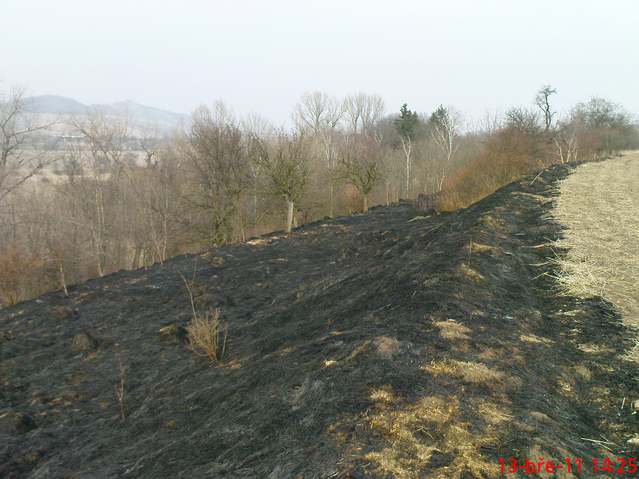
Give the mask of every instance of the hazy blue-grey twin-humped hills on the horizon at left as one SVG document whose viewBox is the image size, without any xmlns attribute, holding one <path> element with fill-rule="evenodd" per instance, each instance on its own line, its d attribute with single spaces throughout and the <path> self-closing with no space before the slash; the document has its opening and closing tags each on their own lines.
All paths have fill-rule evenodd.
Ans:
<svg viewBox="0 0 639 479">
<path fill-rule="evenodd" d="M 147 107 L 133 100 L 114 102 L 111 103 L 111 105 L 85 105 L 77 100 L 73 100 L 73 98 L 66 98 L 65 96 L 39 95 L 33 97 L 33 103 L 36 110 L 43 114 L 82 114 L 87 108 L 100 108 L 106 110 L 108 114 L 118 114 L 118 112 L 128 107 L 137 122 L 158 122 L 168 125 L 188 124 L 190 122 L 189 115 Z"/>
</svg>

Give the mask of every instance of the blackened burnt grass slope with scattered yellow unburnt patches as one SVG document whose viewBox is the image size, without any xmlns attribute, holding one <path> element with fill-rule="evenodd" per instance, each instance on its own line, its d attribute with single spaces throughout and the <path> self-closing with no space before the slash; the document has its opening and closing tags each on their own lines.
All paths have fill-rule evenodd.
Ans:
<svg viewBox="0 0 639 479">
<path fill-rule="evenodd" d="M 637 457 L 638 365 L 620 359 L 633 342 L 610 303 L 551 278 L 567 174 L 412 222 L 424 213 L 410 202 L 327 219 L 1 311 L 0 475 L 468 479 L 501 476 L 500 458 Z M 196 308 L 220 309 L 220 361 L 183 342 L 180 273 Z"/>
</svg>

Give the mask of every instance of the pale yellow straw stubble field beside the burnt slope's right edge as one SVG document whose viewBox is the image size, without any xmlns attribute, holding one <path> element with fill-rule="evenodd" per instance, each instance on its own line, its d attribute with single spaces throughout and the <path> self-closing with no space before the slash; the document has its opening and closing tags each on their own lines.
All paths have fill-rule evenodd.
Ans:
<svg viewBox="0 0 639 479">
<path fill-rule="evenodd" d="M 639 152 L 580 165 L 559 186 L 553 215 L 567 229 L 556 244 L 569 250 L 559 282 L 610 301 L 639 328 Z"/>
</svg>

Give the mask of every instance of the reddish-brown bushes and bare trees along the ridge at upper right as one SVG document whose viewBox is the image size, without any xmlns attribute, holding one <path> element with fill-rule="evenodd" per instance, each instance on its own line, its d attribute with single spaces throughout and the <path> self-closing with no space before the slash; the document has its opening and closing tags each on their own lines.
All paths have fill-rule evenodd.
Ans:
<svg viewBox="0 0 639 479">
<path fill-rule="evenodd" d="M 555 93 L 544 86 L 533 107 L 513 107 L 504 116 L 487 118 L 481 153 L 443 182 L 438 209 L 465 208 L 553 163 L 594 160 L 639 148 L 636 119 L 616 103 L 592 97 L 561 117 L 551 107 Z"/>
</svg>

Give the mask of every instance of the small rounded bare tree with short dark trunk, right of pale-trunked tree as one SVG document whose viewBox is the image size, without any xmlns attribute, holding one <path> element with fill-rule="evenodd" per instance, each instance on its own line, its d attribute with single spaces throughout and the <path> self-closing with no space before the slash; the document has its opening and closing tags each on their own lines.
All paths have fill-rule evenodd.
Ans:
<svg viewBox="0 0 639 479">
<path fill-rule="evenodd" d="M 380 146 L 365 135 L 344 137 L 341 155 L 342 175 L 364 198 L 364 213 L 368 211 L 368 195 L 383 179 Z"/>
</svg>

